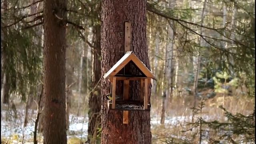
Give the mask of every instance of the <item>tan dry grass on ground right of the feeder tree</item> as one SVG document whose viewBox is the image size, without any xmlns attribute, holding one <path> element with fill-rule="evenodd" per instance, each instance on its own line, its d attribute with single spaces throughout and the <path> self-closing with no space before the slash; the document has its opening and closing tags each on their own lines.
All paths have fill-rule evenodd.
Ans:
<svg viewBox="0 0 256 144">
<path fill-rule="evenodd" d="M 243 115 L 248 115 L 252 113 L 254 109 L 255 98 L 249 98 L 246 96 L 226 96 L 225 105 L 227 111 L 236 114 L 241 113 Z M 220 122 L 225 121 L 225 116 L 222 114 L 222 109 L 219 108 L 222 105 L 223 96 L 222 94 L 217 94 L 214 98 L 202 100 L 205 104 L 202 109 L 203 118 L 206 121 L 218 120 Z M 156 124 L 152 126 L 152 143 L 153 144 L 164 144 L 167 143 L 166 140 L 173 138 L 178 139 L 190 139 L 189 143 L 198 143 L 198 131 L 199 128 L 189 130 L 191 125 L 187 122 L 191 122 L 192 108 L 194 98 L 193 96 L 174 96 L 172 102 L 168 102 L 166 108 L 166 119 L 174 118 L 174 122 L 166 122 L 164 125 Z M 197 100 L 197 106 L 200 100 Z M 157 120 L 160 121 L 161 110 L 162 110 L 162 98 L 152 97 L 151 98 L 151 116 L 156 116 Z M 185 117 L 180 120 L 178 117 Z M 176 119 L 175 119 L 176 118 Z M 196 119 L 197 120 L 197 119 Z M 204 128 L 204 127 L 203 127 Z M 189 130 L 182 132 L 183 130 Z M 216 136 L 215 131 L 210 131 L 208 136 L 214 138 Z M 182 141 L 176 140 L 176 143 L 184 143 Z"/>
</svg>

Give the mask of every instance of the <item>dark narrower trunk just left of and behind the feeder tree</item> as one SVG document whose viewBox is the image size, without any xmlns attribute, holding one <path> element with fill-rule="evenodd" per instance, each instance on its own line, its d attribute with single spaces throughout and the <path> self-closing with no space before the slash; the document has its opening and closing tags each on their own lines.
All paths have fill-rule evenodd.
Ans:
<svg viewBox="0 0 256 144">
<path fill-rule="evenodd" d="M 100 120 L 100 25 L 95 24 L 93 26 L 93 59 L 92 59 L 92 88 L 96 87 L 89 98 L 89 125 L 88 125 L 88 142 L 90 144 L 99 143 L 96 136 L 98 135 L 98 128 L 100 128 L 101 120 Z"/>
</svg>

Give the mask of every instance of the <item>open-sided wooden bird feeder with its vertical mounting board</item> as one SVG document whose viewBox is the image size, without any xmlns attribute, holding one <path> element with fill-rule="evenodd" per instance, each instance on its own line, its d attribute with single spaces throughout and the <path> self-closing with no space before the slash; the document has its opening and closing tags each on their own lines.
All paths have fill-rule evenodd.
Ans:
<svg viewBox="0 0 256 144">
<path fill-rule="evenodd" d="M 125 23 L 125 51 L 124 56 L 114 64 L 114 66 L 103 76 L 108 78 L 111 83 L 110 93 L 112 93 L 112 100 L 108 100 L 108 108 L 110 110 L 122 110 L 123 111 L 123 124 L 128 124 L 128 111 L 131 110 L 148 110 L 150 111 L 150 104 L 148 102 L 148 84 L 150 80 L 156 78 L 150 72 L 150 70 L 143 64 L 142 61 L 130 51 L 130 23 Z M 133 64 L 134 67 L 140 72 L 140 75 L 126 74 L 127 64 Z M 124 70 L 124 74 L 118 74 L 120 70 Z M 130 81 L 140 82 L 140 96 L 137 100 L 131 100 L 129 98 Z M 123 81 L 123 98 L 122 100 L 116 100 L 116 83 L 117 81 Z"/>
</svg>

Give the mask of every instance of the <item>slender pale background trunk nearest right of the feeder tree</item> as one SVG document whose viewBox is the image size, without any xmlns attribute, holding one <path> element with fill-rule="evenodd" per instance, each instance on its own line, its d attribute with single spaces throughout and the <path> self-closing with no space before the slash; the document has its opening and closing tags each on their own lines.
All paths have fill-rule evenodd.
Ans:
<svg viewBox="0 0 256 144">
<path fill-rule="evenodd" d="M 174 4 L 176 3 L 175 0 L 169 0 L 168 1 L 168 7 L 174 8 Z M 172 25 L 172 27 L 170 26 Z M 168 30 L 168 36 L 167 36 L 167 43 L 166 43 L 166 49 L 165 49 L 165 67 L 164 67 L 164 77 L 165 77 L 165 84 L 164 84 L 164 90 L 163 90 L 163 99 L 162 99 L 162 113 L 161 113 L 161 120 L 160 123 L 164 124 L 165 119 L 165 111 L 166 111 L 166 104 L 168 100 L 170 99 L 170 102 L 172 100 L 172 69 L 173 69 L 173 40 L 174 40 L 174 22 L 170 21 L 167 26 Z"/>
</svg>

